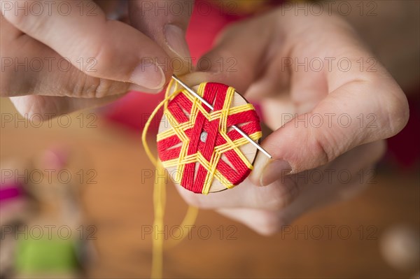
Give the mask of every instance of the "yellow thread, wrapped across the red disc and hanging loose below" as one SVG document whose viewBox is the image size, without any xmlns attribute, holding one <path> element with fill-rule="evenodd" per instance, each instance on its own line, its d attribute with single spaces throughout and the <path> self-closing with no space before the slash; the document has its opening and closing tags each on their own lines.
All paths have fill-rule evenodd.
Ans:
<svg viewBox="0 0 420 279">
<path fill-rule="evenodd" d="M 197 94 L 200 94 L 200 96 L 203 96 L 204 94 L 204 88 L 206 86 L 206 83 L 200 84 Z M 170 94 L 171 90 L 173 88 L 173 93 Z M 167 110 L 167 105 L 169 101 L 174 99 L 174 97 L 177 94 L 184 94 L 188 99 L 190 99 L 191 103 L 193 103 L 191 112 L 190 112 L 190 121 L 186 123 L 180 124 L 176 121 L 175 117 L 169 113 Z M 221 156 L 223 153 L 227 152 L 228 150 L 234 150 L 239 158 L 248 166 L 249 169 L 253 169 L 253 166 L 251 162 L 248 161 L 248 159 L 244 156 L 244 154 L 239 150 L 239 147 L 241 145 L 245 145 L 248 143 L 248 140 L 246 138 L 238 138 L 235 141 L 232 141 L 230 137 L 227 134 L 228 127 L 226 127 L 226 122 L 229 115 L 244 112 L 246 110 L 253 110 L 253 106 L 251 103 L 246 103 L 241 106 L 237 106 L 234 108 L 231 108 L 233 96 L 235 95 L 235 89 L 232 87 L 228 88 L 227 91 L 227 97 L 225 103 L 223 104 L 222 110 L 216 110 L 207 112 L 201 105 L 201 101 L 199 99 L 196 99 L 194 96 L 191 96 L 190 93 L 183 89 L 182 87 L 179 87 L 178 83 L 174 82 L 174 80 L 171 80 L 167 91 L 165 93 L 165 98 L 163 101 L 161 101 L 158 106 L 156 106 L 155 110 L 153 110 L 153 113 L 148 118 L 148 121 L 146 122 L 143 130 L 143 134 L 141 135 L 141 141 L 143 141 L 144 149 L 146 150 L 146 155 L 148 155 L 148 158 L 151 160 L 151 162 L 156 167 L 156 175 L 155 175 L 155 185 L 153 190 L 153 206 L 154 206 L 154 212 L 155 212 L 155 220 L 153 222 L 153 228 L 158 229 L 159 231 L 165 231 L 164 228 L 164 215 L 165 215 L 165 201 L 166 201 L 166 185 L 165 185 L 165 175 L 166 171 L 165 168 L 174 167 L 176 166 L 176 181 L 181 181 L 183 170 L 185 164 L 193 163 L 193 162 L 199 162 L 202 166 L 204 166 L 205 169 L 207 169 L 207 176 L 204 180 L 204 187 L 202 189 L 202 194 L 208 194 L 211 184 L 213 183 L 214 178 L 217 178 L 222 185 L 224 185 L 226 188 L 232 188 L 235 185 L 230 183 L 228 179 L 225 179 L 222 174 L 216 169 L 216 163 L 219 159 L 221 159 Z M 150 124 L 155 117 L 155 115 L 158 113 L 160 108 L 163 107 L 163 112 L 167 120 L 169 120 L 169 123 L 171 123 L 172 129 L 168 129 L 167 131 L 164 131 L 157 136 L 157 140 L 160 141 L 164 138 L 167 138 L 169 136 L 178 136 L 183 141 L 183 145 L 181 147 L 179 158 L 168 160 L 165 162 L 160 162 L 153 153 L 151 152 L 151 149 L 148 147 L 148 143 L 146 141 L 147 131 L 150 127 Z M 186 136 L 185 131 L 190 128 L 190 126 L 195 123 L 195 117 L 199 114 L 198 112 L 201 112 L 204 117 L 207 117 L 209 121 L 215 120 L 220 118 L 221 119 L 221 127 L 219 127 L 219 133 L 223 138 L 225 138 L 226 143 L 223 145 L 218 145 L 214 148 L 214 153 L 211 156 L 210 161 L 207 161 L 200 152 L 197 152 L 193 155 L 186 155 L 187 154 L 187 148 L 188 148 L 188 136 Z M 249 137 L 253 139 L 253 141 L 258 141 L 259 138 L 261 138 L 262 134 L 261 131 L 255 132 L 253 134 L 250 134 Z M 158 181 L 156 181 L 158 180 Z M 174 245 L 178 244 L 183 238 L 186 237 L 190 233 L 190 229 L 193 227 L 192 225 L 195 223 L 195 220 L 197 218 L 198 209 L 195 207 L 190 206 L 188 208 L 188 211 L 186 213 L 186 216 L 183 219 L 183 222 L 181 223 L 181 228 L 188 228 L 187 234 L 181 234 L 181 239 L 177 240 L 171 240 L 168 241 L 169 247 L 173 247 Z M 152 261 L 152 278 L 162 278 L 162 266 L 163 266 L 163 247 L 164 247 L 164 240 L 161 236 L 161 234 L 158 234 L 157 237 L 153 238 L 153 261 Z"/>
</svg>

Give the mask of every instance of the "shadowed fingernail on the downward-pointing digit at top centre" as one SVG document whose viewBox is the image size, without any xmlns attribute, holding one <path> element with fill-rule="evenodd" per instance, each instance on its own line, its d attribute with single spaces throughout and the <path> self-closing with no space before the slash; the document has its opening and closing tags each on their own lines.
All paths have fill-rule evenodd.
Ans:
<svg viewBox="0 0 420 279">
<path fill-rule="evenodd" d="M 169 49 L 182 59 L 188 59 L 190 50 L 188 50 L 185 32 L 174 24 L 166 24 L 164 28 L 165 40 Z"/>
</svg>

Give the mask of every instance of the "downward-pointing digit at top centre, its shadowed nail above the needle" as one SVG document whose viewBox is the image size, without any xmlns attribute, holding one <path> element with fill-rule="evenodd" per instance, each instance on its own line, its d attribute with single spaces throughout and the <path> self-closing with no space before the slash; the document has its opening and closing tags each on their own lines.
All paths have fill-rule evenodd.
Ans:
<svg viewBox="0 0 420 279">
<path fill-rule="evenodd" d="M 193 12 L 193 1 L 129 1 L 130 23 L 167 52 L 166 66 L 175 73 L 188 73 L 192 63 L 186 42 L 186 29 Z"/>
</svg>

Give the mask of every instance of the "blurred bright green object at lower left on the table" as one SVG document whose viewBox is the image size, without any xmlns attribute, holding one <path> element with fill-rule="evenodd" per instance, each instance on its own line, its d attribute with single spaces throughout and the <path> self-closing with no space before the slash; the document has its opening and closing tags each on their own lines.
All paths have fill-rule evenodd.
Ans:
<svg viewBox="0 0 420 279">
<path fill-rule="evenodd" d="M 75 245 L 73 239 L 18 239 L 15 269 L 25 274 L 74 273 L 79 267 Z"/>
</svg>

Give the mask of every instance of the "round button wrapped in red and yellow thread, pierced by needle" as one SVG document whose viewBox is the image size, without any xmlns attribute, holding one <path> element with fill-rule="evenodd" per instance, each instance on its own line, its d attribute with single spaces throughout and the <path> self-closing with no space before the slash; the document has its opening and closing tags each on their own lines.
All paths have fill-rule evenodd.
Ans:
<svg viewBox="0 0 420 279">
<path fill-rule="evenodd" d="M 214 110 L 174 87 L 157 136 L 160 161 L 175 183 L 192 192 L 235 187 L 251 172 L 257 149 L 232 125 L 258 141 L 262 135 L 258 115 L 233 87 L 201 83 L 194 89 Z"/>
</svg>

